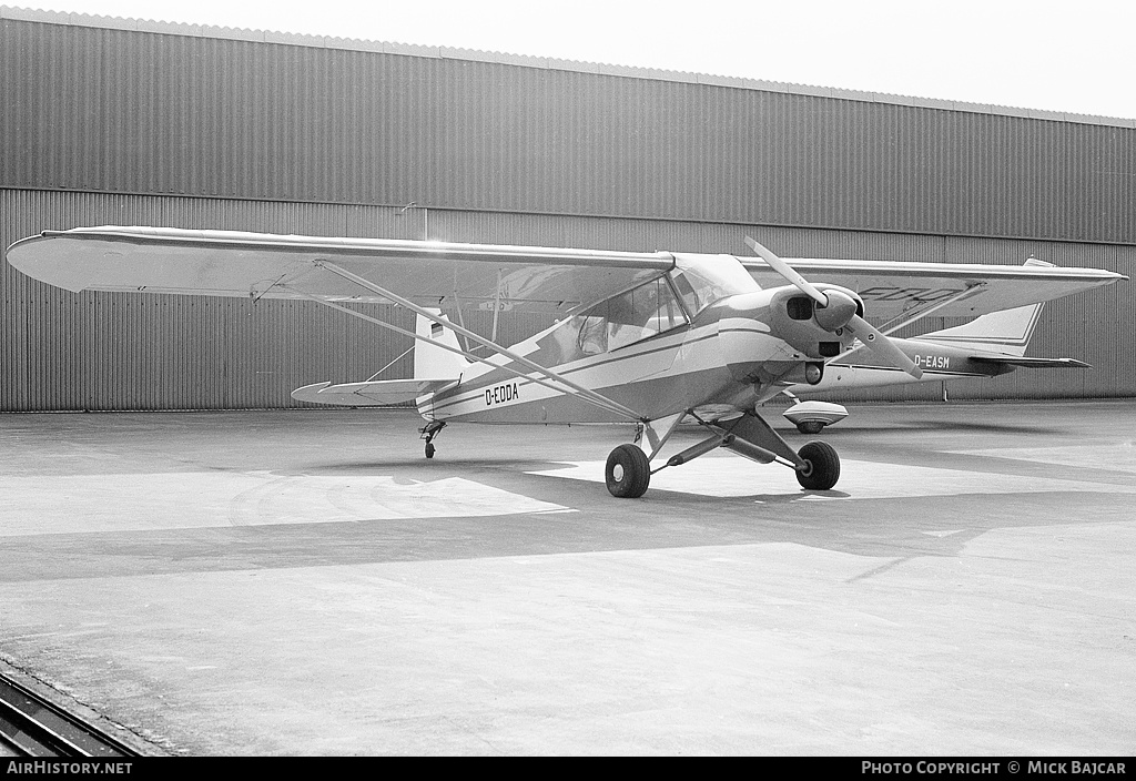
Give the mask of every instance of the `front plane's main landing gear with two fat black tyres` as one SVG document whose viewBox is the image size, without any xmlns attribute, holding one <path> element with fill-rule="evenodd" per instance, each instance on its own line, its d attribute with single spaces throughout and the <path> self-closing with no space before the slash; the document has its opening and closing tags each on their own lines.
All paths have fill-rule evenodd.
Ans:
<svg viewBox="0 0 1136 781">
<path fill-rule="evenodd" d="M 771 463 L 776 461 L 796 472 L 796 480 L 805 490 L 828 490 L 841 477 L 841 460 L 832 445 L 810 442 L 794 452 L 780 435 L 769 428 L 760 417 L 746 413 L 728 421 L 699 421 L 713 436 L 682 453 L 670 456 L 667 463 L 651 469 L 651 459 L 638 445 L 620 445 L 611 451 L 604 469 L 604 480 L 612 496 L 637 498 L 646 493 L 651 476 L 667 467 L 678 467 L 718 447 L 734 451 L 738 455 Z M 655 448 L 661 447 L 661 444 Z"/>
</svg>

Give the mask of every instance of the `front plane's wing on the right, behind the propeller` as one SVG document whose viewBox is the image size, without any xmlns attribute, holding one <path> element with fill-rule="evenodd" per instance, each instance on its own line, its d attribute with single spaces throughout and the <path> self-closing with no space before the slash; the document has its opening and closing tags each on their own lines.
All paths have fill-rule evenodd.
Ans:
<svg viewBox="0 0 1136 781">
<path fill-rule="evenodd" d="M 785 280 L 760 258 L 738 258 L 762 287 Z M 1060 299 L 1124 275 L 1103 269 L 1054 266 L 984 266 L 871 260 L 785 258 L 810 282 L 855 291 L 874 321 L 911 322 L 934 311 L 936 317 L 977 317 L 1004 309 Z"/>
</svg>

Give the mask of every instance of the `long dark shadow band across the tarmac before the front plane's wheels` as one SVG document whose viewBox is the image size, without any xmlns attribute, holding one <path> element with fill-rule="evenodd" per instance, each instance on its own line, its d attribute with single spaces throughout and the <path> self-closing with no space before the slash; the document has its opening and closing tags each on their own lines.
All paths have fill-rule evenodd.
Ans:
<svg viewBox="0 0 1136 781">
<path fill-rule="evenodd" d="M 532 498 L 566 511 L 466 518 L 382 518 L 318 523 L 261 523 L 151 531 L 9 537 L 0 581 L 152 576 L 582 554 L 682 547 L 795 544 L 879 559 L 958 556 L 996 529 L 1052 526 L 1060 492 L 1005 495 L 820 501 L 843 492 L 707 497 L 652 489 L 615 499 L 602 484 L 548 476 L 524 479 Z M 536 488 L 536 490 L 533 490 Z M 1122 499 L 1078 494 L 1062 523 L 1125 520 Z M 790 511 L 790 512 L 787 512 Z"/>
</svg>

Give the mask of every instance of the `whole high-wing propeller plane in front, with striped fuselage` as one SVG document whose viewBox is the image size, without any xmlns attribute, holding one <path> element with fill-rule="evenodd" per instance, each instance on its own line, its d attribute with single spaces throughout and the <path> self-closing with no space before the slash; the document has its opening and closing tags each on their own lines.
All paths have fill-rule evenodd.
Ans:
<svg viewBox="0 0 1136 781">
<path fill-rule="evenodd" d="M 69 291 L 307 299 L 418 339 L 415 376 L 319 383 L 293 396 L 366 406 L 415 400 L 427 457 L 450 422 L 632 422 L 635 443 L 607 462 L 615 496 L 642 496 L 651 475 L 717 447 L 795 470 L 827 490 L 840 459 L 824 442 L 799 451 L 758 405 L 822 381 L 857 344 L 913 378 L 924 369 L 871 326 L 912 312 L 977 317 L 1124 279 L 1100 269 L 871 261 L 763 262 L 733 255 L 613 252 L 222 230 L 98 227 L 44 232 L 8 247 L 20 271 Z M 751 274 L 751 271 L 753 274 Z M 753 275 L 774 274 L 762 287 Z M 802 274 L 825 277 L 810 283 Z M 344 302 L 418 314 L 414 334 Z M 463 306 L 536 308 L 559 319 L 503 346 L 461 324 Z M 457 322 L 443 312 L 452 312 Z M 904 317 L 907 312 L 907 317 Z M 459 336 L 466 341 L 462 345 Z M 488 348 L 473 352 L 470 344 Z M 707 438 L 651 468 L 678 423 Z"/>
</svg>

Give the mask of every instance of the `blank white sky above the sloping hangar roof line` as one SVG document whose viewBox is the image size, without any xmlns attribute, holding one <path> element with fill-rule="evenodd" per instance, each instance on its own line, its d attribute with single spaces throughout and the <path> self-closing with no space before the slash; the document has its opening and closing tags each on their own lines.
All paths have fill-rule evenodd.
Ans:
<svg viewBox="0 0 1136 781">
<path fill-rule="evenodd" d="M 1136 118 L 1136 2 L 8 0 Z"/>
</svg>

